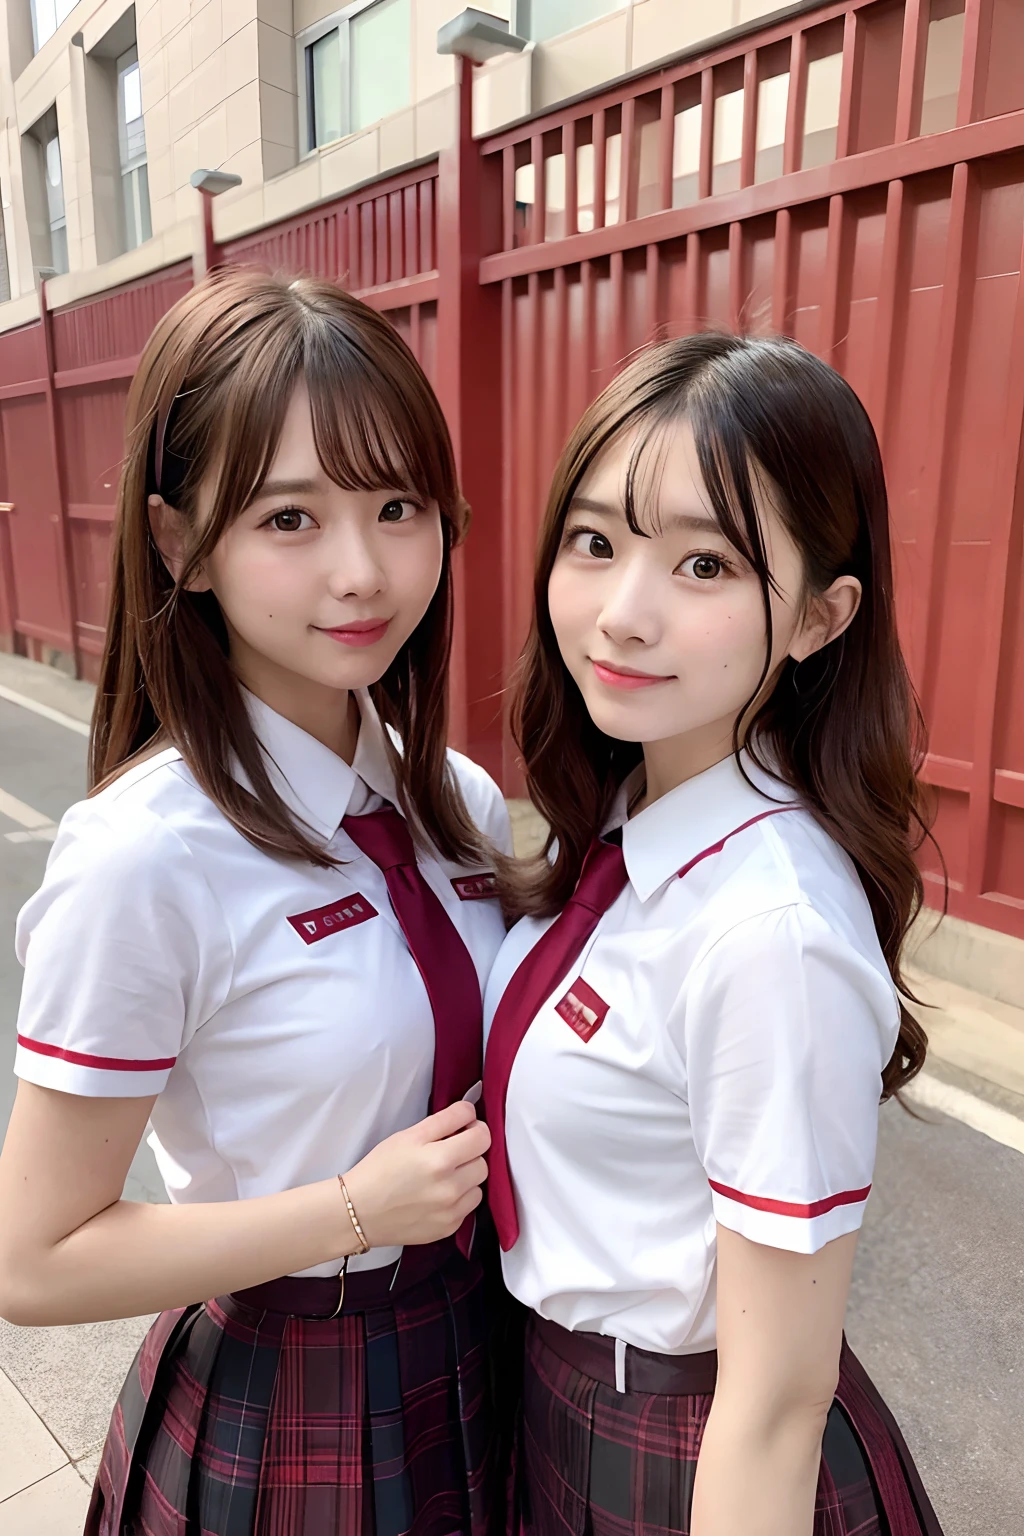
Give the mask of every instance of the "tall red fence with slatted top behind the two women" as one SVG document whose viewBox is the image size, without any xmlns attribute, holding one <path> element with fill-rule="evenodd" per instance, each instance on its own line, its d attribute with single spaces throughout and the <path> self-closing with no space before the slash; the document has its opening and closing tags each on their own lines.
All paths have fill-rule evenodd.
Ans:
<svg viewBox="0 0 1024 1536">
<path fill-rule="evenodd" d="M 1021 0 L 834 0 L 476 144 L 464 89 L 441 164 L 226 247 L 344 281 L 434 379 L 474 507 L 454 734 L 510 790 L 500 687 L 573 419 L 652 335 L 783 330 L 883 441 L 950 906 L 1024 935 L 1021 58 Z M 124 387 L 187 281 L 0 338 L 0 634 L 86 673 Z"/>
</svg>

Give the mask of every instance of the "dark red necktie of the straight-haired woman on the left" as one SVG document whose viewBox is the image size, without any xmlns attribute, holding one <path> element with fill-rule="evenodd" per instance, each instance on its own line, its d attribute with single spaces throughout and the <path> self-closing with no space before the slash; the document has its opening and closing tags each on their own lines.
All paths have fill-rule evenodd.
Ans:
<svg viewBox="0 0 1024 1536">
<path fill-rule="evenodd" d="M 434 1077 L 430 1112 L 447 1109 L 481 1080 L 484 1005 L 473 957 L 422 877 L 416 848 L 398 811 L 388 805 L 368 816 L 345 816 L 352 837 L 387 882 L 395 915 L 424 978 L 434 1015 Z"/>
</svg>

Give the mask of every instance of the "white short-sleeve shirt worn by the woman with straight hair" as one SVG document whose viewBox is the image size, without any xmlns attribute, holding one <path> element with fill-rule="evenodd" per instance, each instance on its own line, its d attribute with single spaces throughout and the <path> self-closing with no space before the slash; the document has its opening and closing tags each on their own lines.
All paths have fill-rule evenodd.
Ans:
<svg viewBox="0 0 1024 1536">
<path fill-rule="evenodd" d="M 330 1178 L 430 1098 L 427 991 L 382 872 L 339 829 L 395 803 L 381 722 L 359 696 L 348 766 L 247 703 L 275 786 L 338 868 L 253 848 L 167 750 L 68 811 L 17 925 L 15 1072 L 86 1097 L 157 1094 L 150 1146 L 183 1203 Z M 467 757 L 448 762 L 476 825 L 510 849 L 497 786 Z M 491 883 L 468 877 L 488 871 L 422 852 L 419 866 L 484 986 L 505 928 Z"/>
</svg>

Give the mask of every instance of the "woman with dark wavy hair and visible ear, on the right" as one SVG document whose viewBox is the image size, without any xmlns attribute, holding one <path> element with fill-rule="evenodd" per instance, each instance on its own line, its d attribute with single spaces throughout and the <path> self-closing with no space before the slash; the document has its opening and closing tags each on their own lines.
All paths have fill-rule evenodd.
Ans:
<svg viewBox="0 0 1024 1536">
<path fill-rule="evenodd" d="M 548 857 L 485 995 L 540 1536 L 938 1536 L 843 1341 L 920 1069 L 918 714 L 867 415 L 789 341 L 651 347 L 548 501 L 516 687 Z"/>
</svg>

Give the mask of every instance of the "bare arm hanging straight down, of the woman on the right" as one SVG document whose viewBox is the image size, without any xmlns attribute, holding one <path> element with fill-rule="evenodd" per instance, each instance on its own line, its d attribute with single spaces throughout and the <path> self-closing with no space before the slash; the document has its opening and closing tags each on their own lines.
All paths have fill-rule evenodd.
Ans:
<svg viewBox="0 0 1024 1536">
<path fill-rule="evenodd" d="M 718 1227 L 718 1385 L 692 1536 L 811 1536 L 857 1233 L 814 1255 Z"/>
</svg>

